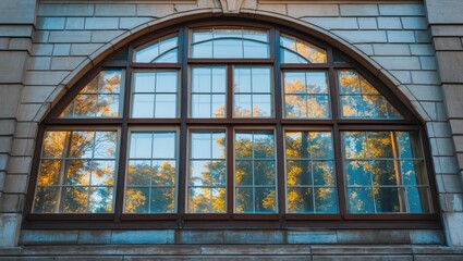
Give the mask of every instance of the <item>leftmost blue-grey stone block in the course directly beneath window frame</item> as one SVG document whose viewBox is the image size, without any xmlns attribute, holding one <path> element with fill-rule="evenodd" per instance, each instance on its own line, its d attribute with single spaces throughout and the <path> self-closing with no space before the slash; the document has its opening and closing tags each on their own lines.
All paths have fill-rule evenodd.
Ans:
<svg viewBox="0 0 463 261">
<path fill-rule="evenodd" d="M 78 231 L 22 231 L 20 243 L 25 246 L 77 244 Z"/>
</svg>

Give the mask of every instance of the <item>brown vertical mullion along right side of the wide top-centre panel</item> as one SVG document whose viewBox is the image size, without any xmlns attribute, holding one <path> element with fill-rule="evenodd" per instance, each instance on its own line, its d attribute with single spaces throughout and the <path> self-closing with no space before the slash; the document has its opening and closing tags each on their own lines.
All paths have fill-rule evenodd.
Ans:
<svg viewBox="0 0 463 261">
<path fill-rule="evenodd" d="M 283 117 L 283 104 L 282 104 L 282 87 L 281 87 L 281 57 L 280 57 L 280 34 L 279 30 L 272 28 L 270 30 L 270 55 L 273 55 L 273 110 L 275 116 L 277 119 L 277 129 L 275 141 L 277 145 L 276 148 L 276 164 L 277 164 L 277 197 L 278 197 L 278 213 L 280 217 L 280 225 L 285 227 L 284 215 L 287 212 L 287 192 L 284 188 L 284 132 L 281 124 Z"/>
</svg>

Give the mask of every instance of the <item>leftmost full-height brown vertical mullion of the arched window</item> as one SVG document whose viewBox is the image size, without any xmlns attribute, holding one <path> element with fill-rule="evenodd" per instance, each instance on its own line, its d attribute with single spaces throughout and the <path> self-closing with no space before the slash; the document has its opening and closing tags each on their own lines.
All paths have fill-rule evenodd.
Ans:
<svg viewBox="0 0 463 261">
<path fill-rule="evenodd" d="M 127 58 L 132 61 L 134 54 L 133 47 L 129 47 L 127 50 Z M 121 129 L 118 132 L 119 140 L 120 140 L 120 147 L 119 147 L 119 165 L 118 165 L 118 176 L 117 176 L 117 184 L 115 184 L 115 203 L 114 203 L 114 221 L 120 222 L 122 212 L 123 212 L 123 206 L 124 206 L 124 198 L 125 198 L 125 167 L 126 167 L 126 159 L 127 159 L 127 144 L 129 144 L 129 115 L 131 112 L 131 94 L 132 94 L 132 67 L 131 63 L 127 62 L 125 66 L 125 82 L 124 82 L 124 95 L 123 95 L 123 102 L 122 105 L 122 126 Z"/>
</svg>

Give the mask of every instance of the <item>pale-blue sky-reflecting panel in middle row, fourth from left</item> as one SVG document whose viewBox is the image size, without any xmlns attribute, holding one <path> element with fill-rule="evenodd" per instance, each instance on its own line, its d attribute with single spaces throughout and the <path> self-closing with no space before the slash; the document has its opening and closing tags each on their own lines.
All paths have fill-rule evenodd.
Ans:
<svg viewBox="0 0 463 261">
<path fill-rule="evenodd" d="M 273 115 L 271 67 L 235 66 L 233 77 L 234 117 Z"/>
</svg>

